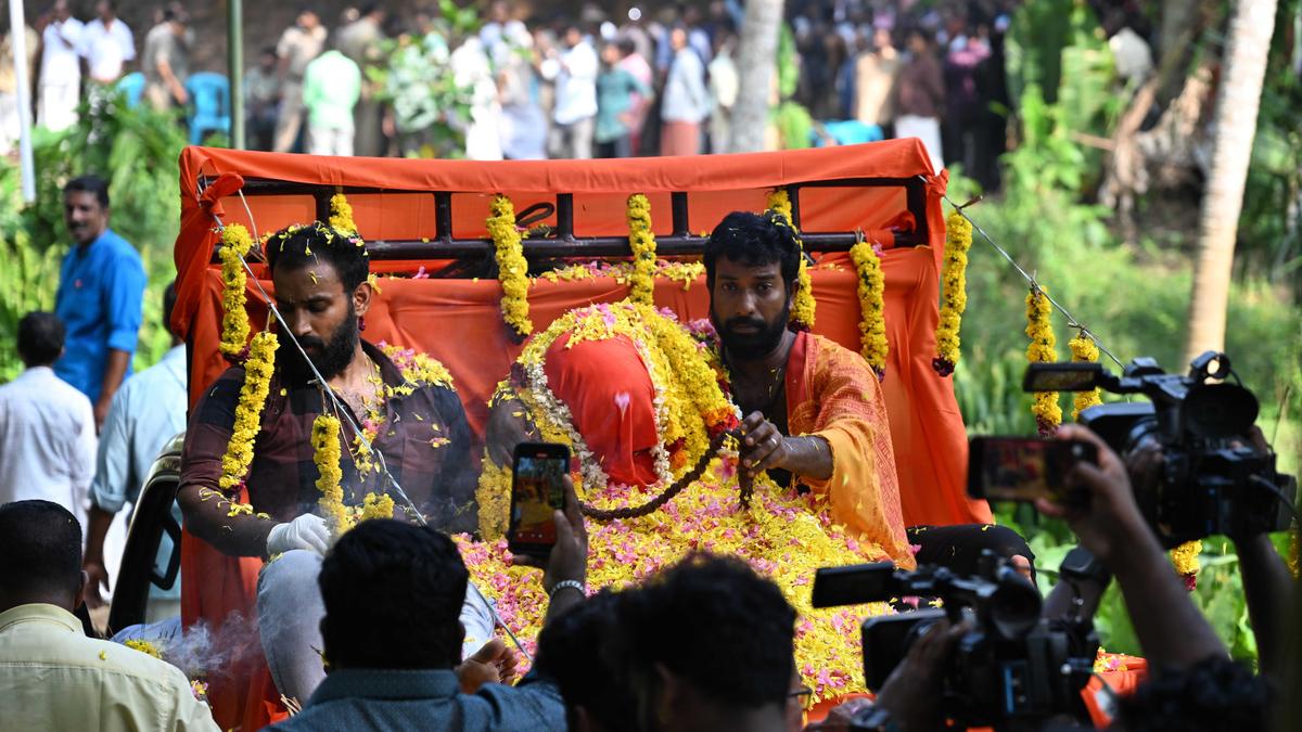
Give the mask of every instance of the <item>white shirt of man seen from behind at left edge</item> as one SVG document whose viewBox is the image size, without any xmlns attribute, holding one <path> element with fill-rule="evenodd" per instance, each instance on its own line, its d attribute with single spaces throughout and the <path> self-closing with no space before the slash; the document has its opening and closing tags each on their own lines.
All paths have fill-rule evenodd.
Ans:
<svg viewBox="0 0 1302 732">
<path fill-rule="evenodd" d="M 0 504 L 53 501 L 85 526 L 94 475 L 95 415 L 86 395 L 48 366 L 0 387 Z"/>
</svg>

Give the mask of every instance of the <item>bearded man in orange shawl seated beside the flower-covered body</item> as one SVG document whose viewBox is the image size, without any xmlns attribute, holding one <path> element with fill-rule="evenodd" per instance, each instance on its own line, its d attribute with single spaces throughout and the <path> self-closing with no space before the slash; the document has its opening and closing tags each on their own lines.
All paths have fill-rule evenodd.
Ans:
<svg viewBox="0 0 1302 732">
<path fill-rule="evenodd" d="M 742 469 L 825 495 L 835 521 L 901 567 L 914 565 L 911 543 L 918 561 L 957 572 L 973 572 L 984 548 L 1029 569 L 1030 548 L 1004 528 L 905 531 L 878 375 L 858 353 L 788 328 L 801 257 L 794 229 L 773 212 L 729 214 L 706 245 L 710 319 L 743 415 Z"/>
</svg>

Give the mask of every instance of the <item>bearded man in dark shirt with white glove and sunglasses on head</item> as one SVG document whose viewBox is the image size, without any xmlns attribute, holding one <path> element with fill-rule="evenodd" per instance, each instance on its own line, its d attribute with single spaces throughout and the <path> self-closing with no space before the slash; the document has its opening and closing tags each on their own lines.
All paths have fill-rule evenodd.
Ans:
<svg viewBox="0 0 1302 732">
<path fill-rule="evenodd" d="M 359 336 L 375 296 L 368 262 L 361 240 L 322 223 L 268 240 L 281 336 L 245 495 L 220 486 L 243 366 L 228 369 L 194 406 L 181 457 L 177 498 L 186 529 L 228 555 L 275 557 L 258 581 L 262 642 L 280 693 L 299 701 L 324 679 L 314 650 L 323 647 L 324 615 L 316 576 L 337 538 L 314 513 L 323 496 L 310 439 L 318 415 L 340 417 L 345 511 L 370 492 L 392 494 L 395 517 L 411 518 L 383 466 L 432 528 L 473 531 L 477 525 L 470 430 L 452 384 L 436 376 L 445 371 L 424 356 L 381 349 Z M 337 409 L 319 379 L 339 396 Z M 370 455 L 354 426 L 366 432 Z M 467 649 L 482 646 L 492 630 L 478 597 L 471 589 L 462 617 Z"/>
</svg>

